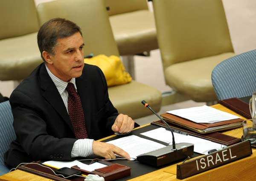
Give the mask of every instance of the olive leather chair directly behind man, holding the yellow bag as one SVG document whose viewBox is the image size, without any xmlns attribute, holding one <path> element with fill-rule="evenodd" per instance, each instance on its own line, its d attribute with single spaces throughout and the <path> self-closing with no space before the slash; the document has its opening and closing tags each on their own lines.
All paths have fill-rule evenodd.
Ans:
<svg viewBox="0 0 256 181">
<path fill-rule="evenodd" d="M 84 38 L 84 55 L 119 56 L 103 0 L 55 0 L 39 4 L 37 10 L 40 24 L 55 17 L 77 23 Z M 116 109 L 133 119 L 151 114 L 140 103 L 143 99 L 156 111 L 160 110 L 161 93 L 143 83 L 133 80 L 131 83 L 109 87 L 108 92 Z"/>
</svg>

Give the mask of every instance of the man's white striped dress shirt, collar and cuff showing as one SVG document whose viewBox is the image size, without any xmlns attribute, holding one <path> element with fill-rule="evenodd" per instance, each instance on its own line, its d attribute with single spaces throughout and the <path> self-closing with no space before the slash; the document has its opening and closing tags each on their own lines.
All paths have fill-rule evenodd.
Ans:
<svg viewBox="0 0 256 181">
<path fill-rule="evenodd" d="M 67 83 L 59 78 L 57 78 L 55 75 L 50 72 L 48 69 L 47 65 L 45 65 L 47 72 L 52 79 L 53 83 L 55 84 L 56 88 L 58 89 L 58 92 L 61 95 L 61 98 L 64 102 L 64 105 L 67 109 L 68 112 L 68 106 L 67 106 L 67 101 L 68 101 L 68 92 L 66 90 Z M 73 83 L 75 88 L 76 88 L 76 79 L 72 78 L 69 82 Z M 77 90 L 77 88 L 76 88 Z M 71 157 L 87 157 L 89 155 L 93 155 L 93 139 L 79 139 L 75 141 L 72 151 L 71 151 Z"/>
</svg>

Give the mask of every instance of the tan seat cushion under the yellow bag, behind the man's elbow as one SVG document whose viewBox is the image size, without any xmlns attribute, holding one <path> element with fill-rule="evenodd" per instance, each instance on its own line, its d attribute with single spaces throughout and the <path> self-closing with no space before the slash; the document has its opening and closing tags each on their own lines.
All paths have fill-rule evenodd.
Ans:
<svg viewBox="0 0 256 181">
<path fill-rule="evenodd" d="M 156 112 L 160 110 L 162 101 L 160 91 L 134 80 L 127 84 L 109 87 L 108 94 L 118 112 L 133 119 L 152 114 L 143 106 L 142 100 L 147 101 Z"/>
</svg>

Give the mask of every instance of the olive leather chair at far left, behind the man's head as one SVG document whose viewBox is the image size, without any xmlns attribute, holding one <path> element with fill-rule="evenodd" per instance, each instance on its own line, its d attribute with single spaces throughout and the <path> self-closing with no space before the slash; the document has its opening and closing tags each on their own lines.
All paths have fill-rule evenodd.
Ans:
<svg viewBox="0 0 256 181">
<path fill-rule="evenodd" d="M 22 80 L 42 62 L 34 0 L 1 0 L 0 14 L 0 80 Z"/>
</svg>

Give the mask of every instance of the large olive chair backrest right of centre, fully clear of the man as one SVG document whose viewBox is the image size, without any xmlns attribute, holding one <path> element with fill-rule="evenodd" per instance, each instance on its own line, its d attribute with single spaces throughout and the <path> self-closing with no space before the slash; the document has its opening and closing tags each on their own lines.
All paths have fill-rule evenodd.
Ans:
<svg viewBox="0 0 256 181">
<path fill-rule="evenodd" d="M 233 52 L 221 0 L 153 0 L 163 67 Z"/>
</svg>

